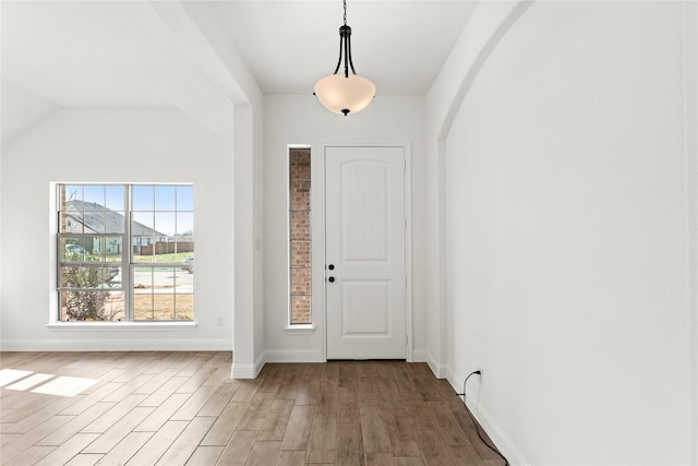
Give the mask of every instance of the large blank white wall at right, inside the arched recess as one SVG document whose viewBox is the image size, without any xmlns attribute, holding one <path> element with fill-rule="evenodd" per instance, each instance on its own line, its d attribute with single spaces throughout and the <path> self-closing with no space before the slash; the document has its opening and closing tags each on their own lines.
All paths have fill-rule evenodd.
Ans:
<svg viewBox="0 0 698 466">
<path fill-rule="evenodd" d="M 695 461 L 685 25 L 682 2 L 535 2 L 449 128 L 449 380 L 483 369 L 469 395 L 514 464 Z"/>
</svg>

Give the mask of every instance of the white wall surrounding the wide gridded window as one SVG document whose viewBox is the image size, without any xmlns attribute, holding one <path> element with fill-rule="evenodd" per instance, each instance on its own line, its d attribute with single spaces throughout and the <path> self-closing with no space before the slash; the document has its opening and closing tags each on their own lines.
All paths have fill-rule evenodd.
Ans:
<svg viewBox="0 0 698 466">
<path fill-rule="evenodd" d="M 2 349 L 232 349 L 232 264 L 221 260 L 233 256 L 231 154 L 232 139 L 168 109 L 63 109 L 3 145 Z M 49 183 L 63 181 L 194 183 L 194 328 L 46 326 L 55 301 Z"/>
</svg>

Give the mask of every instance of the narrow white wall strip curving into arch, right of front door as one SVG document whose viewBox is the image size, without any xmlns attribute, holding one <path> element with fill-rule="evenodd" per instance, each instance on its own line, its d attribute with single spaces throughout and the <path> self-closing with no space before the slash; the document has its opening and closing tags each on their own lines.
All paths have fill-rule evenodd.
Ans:
<svg viewBox="0 0 698 466">
<path fill-rule="evenodd" d="M 426 346 L 428 362 L 440 378 L 448 374 L 445 138 L 482 63 L 530 4 L 479 2 L 426 94 Z"/>
</svg>

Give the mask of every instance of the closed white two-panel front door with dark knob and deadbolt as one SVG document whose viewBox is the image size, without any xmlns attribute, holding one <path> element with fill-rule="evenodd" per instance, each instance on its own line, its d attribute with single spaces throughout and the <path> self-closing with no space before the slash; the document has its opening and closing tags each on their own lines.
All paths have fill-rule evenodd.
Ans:
<svg viewBox="0 0 698 466">
<path fill-rule="evenodd" d="M 325 147 L 327 359 L 406 359 L 405 147 Z"/>
</svg>

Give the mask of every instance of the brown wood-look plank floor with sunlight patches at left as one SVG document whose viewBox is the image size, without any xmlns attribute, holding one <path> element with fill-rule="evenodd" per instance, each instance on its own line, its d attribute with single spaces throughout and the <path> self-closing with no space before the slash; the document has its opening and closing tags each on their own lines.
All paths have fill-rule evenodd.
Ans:
<svg viewBox="0 0 698 466">
<path fill-rule="evenodd" d="M 3 466 L 504 463 L 423 363 L 266 365 L 232 380 L 220 351 L 0 357 L 32 372 L 0 389 Z M 33 392 L 81 383 L 94 384 Z"/>
</svg>

